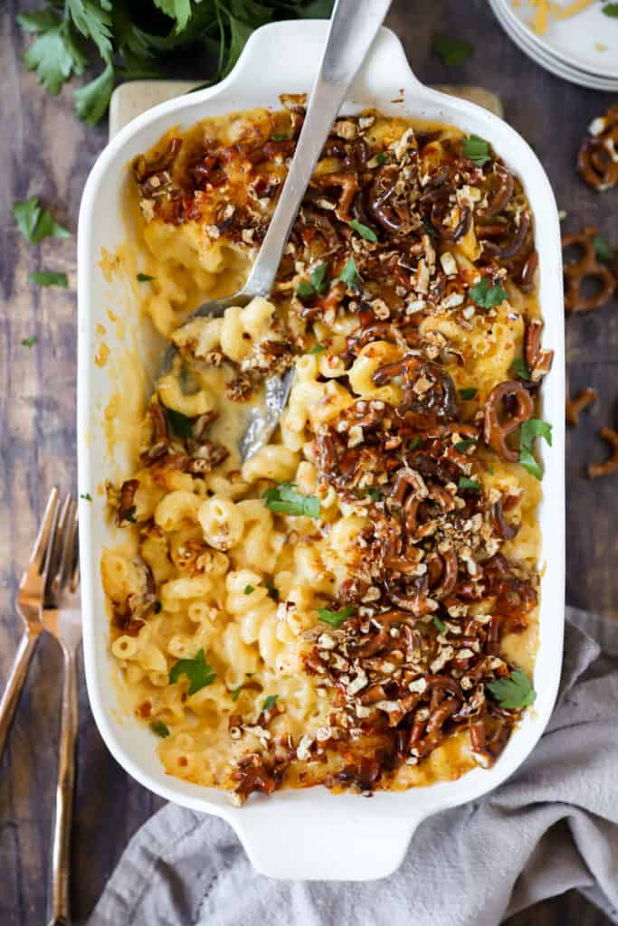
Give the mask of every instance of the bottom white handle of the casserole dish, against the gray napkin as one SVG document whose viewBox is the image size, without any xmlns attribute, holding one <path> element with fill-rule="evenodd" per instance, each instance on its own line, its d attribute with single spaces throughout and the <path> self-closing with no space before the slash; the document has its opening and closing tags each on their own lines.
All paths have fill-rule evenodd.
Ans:
<svg viewBox="0 0 618 926">
<path fill-rule="evenodd" d="M 359 798 L 357 798 L 359 799 Z M 418 824 L 350 811 L 346 820 L 314 817 L 233 820 L 252 865 L 269 878 L 291 881 L 373 881 L 396 871 Z M 424 816 L 424 815 L 423 815 Z"/>
</svg>

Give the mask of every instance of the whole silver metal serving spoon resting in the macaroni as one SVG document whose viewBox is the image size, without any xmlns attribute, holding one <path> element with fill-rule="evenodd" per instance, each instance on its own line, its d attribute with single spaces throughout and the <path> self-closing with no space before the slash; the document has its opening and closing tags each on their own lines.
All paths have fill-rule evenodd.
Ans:
<svg viewBox="0 0 618 926">
<path fill-rule="evenodd" d="M 322 147 L 390 5 L 391 0 L 336 0 L 322 64 L 309 95 L 296 151 L 246 283 L 239 293 L 196 308 L 183 324 L 198 317 L 220 318 L 226 308 L 246 306 L 254 296 L 266 298 L 271 294 L 285 244 Z M 298 53 L 301 54 L 302 49 L 299 48 Z M 165 358 L 165 369 L 170 369 L 175 353 L 176 348 L 172 346 Z M 271 376 L 266 380 L 263 405 L 252 409 L 240 441 L 243 460 L 252 457 L 268 442 L 284 410 L 291 383 L 291 369 L 283 376 Z"/>
</svg>

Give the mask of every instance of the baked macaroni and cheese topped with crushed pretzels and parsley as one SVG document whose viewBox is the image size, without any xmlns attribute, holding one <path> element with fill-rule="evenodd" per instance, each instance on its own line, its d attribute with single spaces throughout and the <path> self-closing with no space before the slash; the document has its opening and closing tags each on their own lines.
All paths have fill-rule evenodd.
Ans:
<svg viewBox="0 0 618 926">
<path fill-rule="evenodd" d="M 339 119 L 271 298 L 182 326 L 246 276 L 302 103 L 170 132 L 132 165 L 144 309 L 177 352 L 107 489 L 137 543 L 102 557 L 111 650 L 166 770 L 236 803 L 486 768 L 534 700 L 551 355 L 531 209 L 489 146 Z"/>
</svg>

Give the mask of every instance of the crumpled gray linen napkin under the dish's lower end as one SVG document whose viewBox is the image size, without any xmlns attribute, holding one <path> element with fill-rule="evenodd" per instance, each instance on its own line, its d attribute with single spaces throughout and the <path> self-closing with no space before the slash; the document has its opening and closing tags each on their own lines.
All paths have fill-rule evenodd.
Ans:
<svg viewBox="0 0 618 926">
<path fill-rule="evenodd" d="M 572 887 L 618 923 L 618 621 L 567 618 L 559 700 L 532 756 L 425 820 L 389 878 L 273 881 L 227 823 L 170 804 L 133 837 L 89 926 L 496 926 Z"/>
</svg>

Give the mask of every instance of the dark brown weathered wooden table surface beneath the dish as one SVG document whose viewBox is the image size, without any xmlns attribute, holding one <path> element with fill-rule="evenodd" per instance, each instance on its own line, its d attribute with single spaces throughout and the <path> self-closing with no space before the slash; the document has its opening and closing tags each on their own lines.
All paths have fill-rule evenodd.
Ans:
<svg viewBox="0 0 618 926">
<path fill-rule="evenodd" d="M 70 91 L 54 99 L 21 66 L 23 38 L 15 22 L 32 4 L 7 0 L 2 14 L 0 61 L 0 682 L 18 642 L 12 614 L 16 582 L 50 487 L 75 484 L 75 239 L 26 244 L 10 206 L 39 194 L 75 232 L 83 184 L 106 142 L 107 127 L 82 125 Z M 417 11 L 414 13 L 413 11 Z M 421 12 L 418 12 L 421 11 Z M 612 102 L 610 94 L 575 87 L 540 69 L 498 26 L 484 0 L 413 3 L 395 0 L 389 25 L 404 41 L 410 64 L 429 83 L 483 84 L 502 98 L 506 117 L 536 146 L 549 172 L 569 231 L 596 224 L 618 244 L 618 190 L 596 194 L 577 177 L 575 153 L 586 125 Z M 448 69 L 431 54 L 435 31 L 473 44 L 464 64 Z M 203 78 L 199 61 L 177 76 Z M 534 206 L 534 203 L 533 203 Z M 38 269 L 69 274 L 69 292 L 37 289 L 27 280 Z M 599 403 L 568 438 L 568 585 L 571 604 L 618 617 L 618 476 L 589 482 L 586 462 L 605 446 L 595 436 L 616 426 L 618 303 L 567 321 L 572 390 L 594 385 Z M 21 340 L 36 335 L 37 343 Z M 44 923 L 49 835 L 56 783 L 58 721 L 57 648 L 42 639 L 19 704 L 0 767 L 0 923 Z M 84 921 L 132 833 L 161 804 L 120 769 L 96 731 L 82 682 L 79 770 L 73 832 L 72 894 L 76 921 Z M 571 892 L 510 920 L 510 926 L 609 922 Z M 119 924 L 120 926 L 120 924 Z"/>
</svg>

